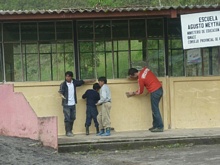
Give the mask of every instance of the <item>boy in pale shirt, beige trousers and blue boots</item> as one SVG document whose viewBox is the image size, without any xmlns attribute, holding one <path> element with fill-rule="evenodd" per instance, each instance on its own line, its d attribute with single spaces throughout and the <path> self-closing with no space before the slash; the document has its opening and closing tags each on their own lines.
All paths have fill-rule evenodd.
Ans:
<svg viewBox="0 0 220 165">
<path fill-rule="evenodd" d="M 110 121 L 110 109 L 111 109 L 111 92 L 107 85 L 106 77 L 99 77 L 98 79 L 100 90 L 100 100 L 96 105 L 101 105 L 101 111 L 98 114 L 98 122 L 101 131 L 97 134 L 99 136 L 110 136 L 111 121 Z"/>
</svg>

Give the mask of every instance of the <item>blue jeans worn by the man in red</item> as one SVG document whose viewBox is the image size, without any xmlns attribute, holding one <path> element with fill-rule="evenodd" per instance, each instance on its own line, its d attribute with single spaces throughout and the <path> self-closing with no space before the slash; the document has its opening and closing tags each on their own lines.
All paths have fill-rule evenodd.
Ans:
<svg viewBox="0 0 220 165">
<path fill-rule="evenodd" d="M 159 102 L 163 95 L 162 87 L 152 92 L 150 95 L 151 98 L 151 109 L 153 116 L 153 127 L 154 128 L 163 128 L 163 121 L 160 115 Z"/>
</svg>

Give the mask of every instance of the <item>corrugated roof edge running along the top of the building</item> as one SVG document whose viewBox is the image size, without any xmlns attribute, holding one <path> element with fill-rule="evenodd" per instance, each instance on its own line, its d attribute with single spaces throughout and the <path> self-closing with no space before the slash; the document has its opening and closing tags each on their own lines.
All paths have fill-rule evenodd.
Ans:
<svg viewBox="0 0 220 165">
<path fill-rule="evenodd" d="M 160 10 L 184 10 L 184 9 L 218 9 L 220 5 L 195 5 L 195 6 L 132 6 L 132 7 L 118 7 L 109 8 L 97 6 L 95 8 L 66 8 L 62 10 L 0 10 L 0 15 L 35 15 L 35 14 L 62 14 L 62 13 L 99 13 L 99 12 L 137 12 L 137 11 L 160 11 Z"/>
</svg>

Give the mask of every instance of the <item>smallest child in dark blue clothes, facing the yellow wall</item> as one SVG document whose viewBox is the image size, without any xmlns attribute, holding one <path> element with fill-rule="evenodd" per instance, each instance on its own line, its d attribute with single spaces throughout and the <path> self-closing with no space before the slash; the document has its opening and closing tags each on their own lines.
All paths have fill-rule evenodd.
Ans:
<svg viewBox="0 0 220 165">
<path fill-rule="evenodd" d="M 86 99 L 86 135 L 89 135 L 89 126 L 93 119 L 96 127 L 96 133 L 99 133 L 99 124 L 97 121 L 98 110 L 96 103 L 100 100 L 99 89 L 101 87 L 98 83 L 93 84 L 93 89 L 88 89 L 83 95 L 82 98 Z"/>
</svg>

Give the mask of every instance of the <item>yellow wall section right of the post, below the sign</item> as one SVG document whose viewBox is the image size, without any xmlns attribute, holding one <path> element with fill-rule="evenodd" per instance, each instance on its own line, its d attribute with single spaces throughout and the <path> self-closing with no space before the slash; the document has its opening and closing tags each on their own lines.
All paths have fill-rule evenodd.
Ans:
<svg viewBox="0 0 220 165">
<path fill-rule="evenodd" d="M 170 78 L 172 128 L 220 127 L 220 77 Z"/>
</svg>

